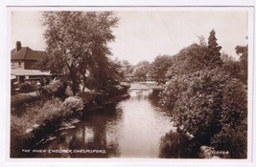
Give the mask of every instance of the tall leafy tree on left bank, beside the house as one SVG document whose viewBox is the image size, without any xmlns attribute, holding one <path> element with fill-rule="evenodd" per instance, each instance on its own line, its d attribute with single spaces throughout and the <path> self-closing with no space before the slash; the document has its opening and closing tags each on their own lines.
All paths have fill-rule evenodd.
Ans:
<svg viewBox="0 0 256 167">
<path fill-rule="evenodd" d="M 111 28 L 118 18 L 111 11 L 45 11 L 43 24 L 47 55 L 39 63 L 44 71 L 63 73 L 73 94 L 88 86 L 88 78 L 111 66 L 107 47 L 114 41 Z M 103 71 L 103 72 L 102 72 Z"/>
</svg>

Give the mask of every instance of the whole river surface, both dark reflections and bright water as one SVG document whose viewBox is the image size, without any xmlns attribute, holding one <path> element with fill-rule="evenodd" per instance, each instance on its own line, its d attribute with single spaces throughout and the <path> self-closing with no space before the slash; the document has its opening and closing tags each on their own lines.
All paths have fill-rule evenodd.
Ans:
<svg viewBox="0 0 256 167">
<path fill-rule="evenodd" d="M 45 138 L 35 157 L 159 157 L 163 136 L 175 132 L 171 117 L 149 98 L 151 89 L 128 94 Z"/>
</svg>

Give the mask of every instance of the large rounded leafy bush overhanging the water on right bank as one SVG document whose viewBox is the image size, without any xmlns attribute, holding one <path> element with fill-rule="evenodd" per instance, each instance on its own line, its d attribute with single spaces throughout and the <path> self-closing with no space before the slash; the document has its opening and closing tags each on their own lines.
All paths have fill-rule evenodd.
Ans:
<svg viewBox="0 0 256 167">
<path fill-rule="evenodd" d="M 222 90 L 228 77 L 220 68 L 204 69 L 172 79 L 161 94 L 162 104 L 171 109 L 176 125 L 183 126 L 201 144 L 210 144 L 211 137 L 220 131 Z"/>
</svg>

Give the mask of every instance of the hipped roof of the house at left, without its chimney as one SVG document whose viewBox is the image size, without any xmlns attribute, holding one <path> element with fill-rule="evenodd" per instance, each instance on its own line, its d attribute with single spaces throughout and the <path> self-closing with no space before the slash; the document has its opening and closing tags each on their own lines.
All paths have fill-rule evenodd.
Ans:
<svg viewBox="0 0 256 167">
<path fill-rule="evenodd" d="M 13 49 L 11 54 L 12 60 L 40 60 L 46 54 L 46 52 L 33 51 L 29 47 L 22 47 L 18 52 Z"/>
</svg>

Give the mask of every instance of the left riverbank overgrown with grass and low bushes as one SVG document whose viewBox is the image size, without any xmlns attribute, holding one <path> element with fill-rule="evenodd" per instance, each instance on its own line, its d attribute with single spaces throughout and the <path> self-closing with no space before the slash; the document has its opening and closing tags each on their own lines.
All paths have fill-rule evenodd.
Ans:
<svg viewBox="0 0 256 167">
<path fill-rule="evenodd" d="M 24 146 L 35 145 L 66 122 L 127 98 L 128 88 L 122 85 L 111 94 L 78 94 L 64 101 L 58 97 L 40 98 L 29 105 L 24 104 L 22 115 L 11 115 L 11 157 L 18 157 Z"/>
</svg>

